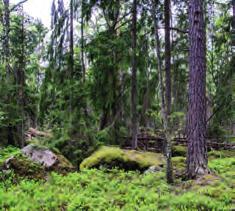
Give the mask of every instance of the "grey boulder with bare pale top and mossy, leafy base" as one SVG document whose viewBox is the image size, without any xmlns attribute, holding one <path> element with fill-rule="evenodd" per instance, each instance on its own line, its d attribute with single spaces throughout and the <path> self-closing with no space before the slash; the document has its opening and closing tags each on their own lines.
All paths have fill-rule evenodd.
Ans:
<svg viewBox="0 0 235 211">
<path fill-rule="evenodd" d="M 0 169 L 4 175 L 13 172 L 16 177 L 28 179 L 45 179 L 51 171 L 66 174 L 75 170 L 63 155 L 36 145 L 0 150 Z"/>
</svg>

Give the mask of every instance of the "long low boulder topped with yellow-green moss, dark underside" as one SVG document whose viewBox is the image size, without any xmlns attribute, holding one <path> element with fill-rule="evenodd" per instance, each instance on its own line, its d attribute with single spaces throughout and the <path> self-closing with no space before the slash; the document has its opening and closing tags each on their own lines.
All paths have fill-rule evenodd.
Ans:
<svg viewBox="0 0 235 211">
<path fill-rule="evenodd" d="M 117 147 L 101 147 L 81 163 L 80 169 L 104 167 L 143 172 L 152 166 L 161 168 L 163 165 L 164 157 L 158 153 L 123 150 Z"/>
</svg>

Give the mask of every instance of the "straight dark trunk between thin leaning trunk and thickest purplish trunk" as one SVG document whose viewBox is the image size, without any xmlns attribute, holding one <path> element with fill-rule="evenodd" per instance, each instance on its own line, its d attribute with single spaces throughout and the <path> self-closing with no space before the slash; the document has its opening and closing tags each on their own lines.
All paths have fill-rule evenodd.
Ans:
<svg viewBox="0 0 235 211">
<path fill-rule="evenodd" d="M 165 71 L 166 71 L 166 107 L 171 112 L 171 40 L 170 40 L 170 0 L 164 1 L 165 16 Z"/>
</svg>

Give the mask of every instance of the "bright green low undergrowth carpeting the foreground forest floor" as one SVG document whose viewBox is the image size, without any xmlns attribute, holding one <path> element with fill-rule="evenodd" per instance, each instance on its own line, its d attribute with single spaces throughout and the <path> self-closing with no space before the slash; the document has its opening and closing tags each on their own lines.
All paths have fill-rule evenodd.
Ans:
<svg viewBox="0 0 235 211">
<path fill-rule="evenodd" d="M 194 181 L 165 182 L 157 173 L 91 169 L 46 181 L 9 177 L 0 182 L 0 210 L 234 210 L 235 152 L 209 154 L 211 174 Z M 174 173 L 184 171 L 184 157 L 174 157 Z"/>
</svg>

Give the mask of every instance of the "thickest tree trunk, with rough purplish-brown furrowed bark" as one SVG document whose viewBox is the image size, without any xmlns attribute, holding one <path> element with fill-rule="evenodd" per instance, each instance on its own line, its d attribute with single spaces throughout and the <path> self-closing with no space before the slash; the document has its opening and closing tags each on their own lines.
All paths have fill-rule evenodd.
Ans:
<svg viewBox="0 0 235 211">
<path fill-rule="evenodd" d="M 187 115 L 187 175 L 207 172 L 206 31 L 203 0 L 189 2 L 189 105 Z"/>
</svg>

